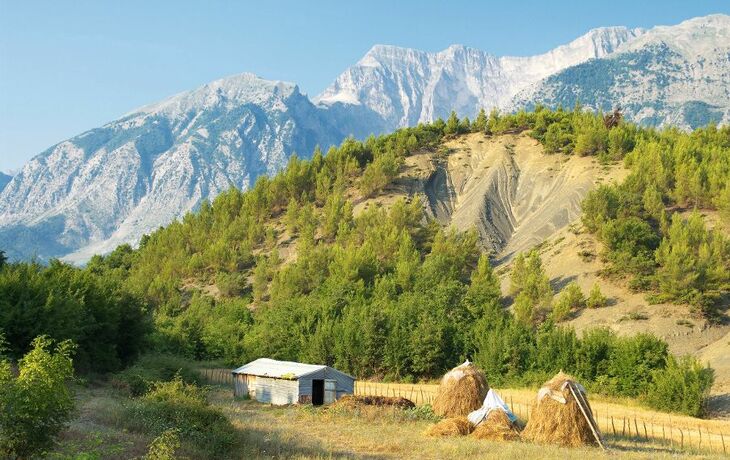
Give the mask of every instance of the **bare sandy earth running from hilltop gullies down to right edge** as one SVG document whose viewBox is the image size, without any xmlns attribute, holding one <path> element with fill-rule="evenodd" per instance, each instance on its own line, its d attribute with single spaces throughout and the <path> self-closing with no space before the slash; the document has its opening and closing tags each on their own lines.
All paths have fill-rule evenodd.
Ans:
<svg viewBox="0 0 730 460">
<path fill-rule="evenodd" d="M 606 308 L 585 309 L 569 319 L 579 332 L 603 326 L 619 334 L 656 334 L 673 353 L 709 362 L 716 370 L 713 392 L 728 393 L 730 326 L 713 326 L 684 305 L 649 305 L 644 294 L 632 293 L 622 281 L 599 276 L 601 247 L 580 230 L 580 203 L 592 187 L 620 182 L 627 170 L 591 157 L 545 154 L 524 133 L 469 134 L 444 147 L 437 155 L 408 157 L 394 184 L 376 198 L 356 200 L 355 213 L 387 207 L 403 196 L 420 197 L 426 212 L 443 225 L 478 231 L 499 266 L 505 293 L 512 257 L 539 247 L 555 292 L 575 281 L 587 294 L 597 283 L 609 298 Z"/>
</svg>

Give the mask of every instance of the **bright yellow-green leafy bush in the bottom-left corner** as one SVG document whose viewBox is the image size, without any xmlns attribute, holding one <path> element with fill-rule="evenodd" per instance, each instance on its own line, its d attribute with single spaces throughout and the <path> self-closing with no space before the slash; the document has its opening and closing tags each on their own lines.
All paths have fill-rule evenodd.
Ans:
<svg viewBox="0 0 730 460">
<path fill-rule="evenodd" d="M 52 345 L 48 337 L 36 338 L 17 377 L 8 360 L 0 361 L 0 457 L 28 458 L 50 447 L 71 417 L 74 346 Z"/>
</svg>

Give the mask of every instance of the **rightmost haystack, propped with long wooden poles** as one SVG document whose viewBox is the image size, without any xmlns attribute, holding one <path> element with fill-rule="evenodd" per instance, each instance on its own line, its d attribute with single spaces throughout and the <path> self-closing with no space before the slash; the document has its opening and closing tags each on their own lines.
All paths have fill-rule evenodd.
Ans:
<svg viewBox="0 0 730 460">
<path fill-rule="evenodd" d="M 570 389 L 561 389 L 569 380 L 576 382 L 573 377 L 560 372 L 543 385 L 543 388 L 553 391 L 556 397 L 562 396 L 566 403 L 562 404 L 549 395 L 537 401 L 522 432 L 523 439 L 566 447 L 597 444 Z"/>
</svg>

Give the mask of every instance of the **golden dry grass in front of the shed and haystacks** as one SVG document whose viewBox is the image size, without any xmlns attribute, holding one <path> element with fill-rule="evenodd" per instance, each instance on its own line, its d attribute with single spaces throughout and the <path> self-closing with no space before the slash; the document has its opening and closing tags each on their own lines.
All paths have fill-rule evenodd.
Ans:
<svg viewBox="0 0 730 460">
<path fill-rule="evenodd" d="M 612 451 L 598 448 L 562 448 L 523 442 L 492 442 L 473 436 L 428 437 L 431 424 L 412 420 L 404 411 L 369 407 L 368 411 L 328 411 L 311 407 L 272 407 L 253 401 L 233 401 L 230 391 L 213 395 L 243 433 L 240 458 L 367 458 L 367 459 L 628 459 L 689 458 L 646 444 L 613 443 Z M 407 412 L 407 411 L 406 411 Z M 715 458 L 720 458 L 719 456 Z"/>
</svg>

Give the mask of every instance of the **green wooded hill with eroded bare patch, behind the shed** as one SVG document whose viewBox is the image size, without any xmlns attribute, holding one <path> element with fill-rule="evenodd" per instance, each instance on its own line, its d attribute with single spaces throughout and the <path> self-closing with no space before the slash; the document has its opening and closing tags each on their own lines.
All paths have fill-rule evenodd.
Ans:
<svg viewBox="0 0 730 460">
<path fill-rule="evenodd" d="M 468 358 L 494 385 L 562 369 L 700 415 L 713 382 L 703 349 L 718 391 L 727 383 L 714 343 L 727 333 L 730 130 L 609 121 L 452 114 L 315 149 L 138 249 L 83 269 L 6 264 L 0 329 L 11 356 L 52 332 L 102 372 L 145 346 L 406 382 Z"/>
</svg>

